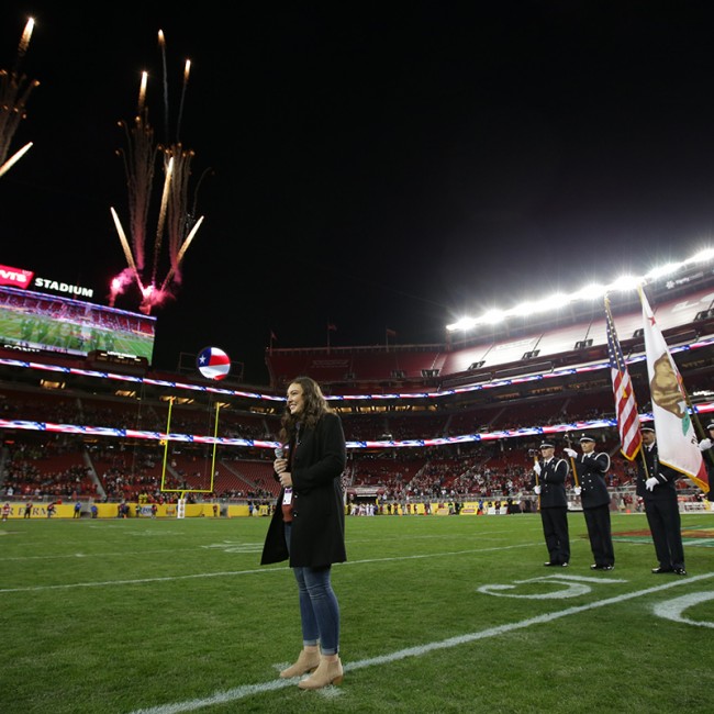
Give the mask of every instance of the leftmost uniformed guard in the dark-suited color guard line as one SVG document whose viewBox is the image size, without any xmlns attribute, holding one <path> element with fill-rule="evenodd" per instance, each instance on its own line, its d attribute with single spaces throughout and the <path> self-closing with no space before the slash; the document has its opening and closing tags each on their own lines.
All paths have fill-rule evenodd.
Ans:
<svg viewBox="0 0 714 714">
<path fill-rule="evenodd" d="M 568 533 L 568 499 L 566 479 L 570 471 L 565 459 L 555 457 L 553 442 L 540 444 L 540 458 L 534 464 L 534 493 L 539 497 L 543 535 L 549 559 L 546 567 L 567 568 L 570 562 L 570 535 Z"/>
</svg>

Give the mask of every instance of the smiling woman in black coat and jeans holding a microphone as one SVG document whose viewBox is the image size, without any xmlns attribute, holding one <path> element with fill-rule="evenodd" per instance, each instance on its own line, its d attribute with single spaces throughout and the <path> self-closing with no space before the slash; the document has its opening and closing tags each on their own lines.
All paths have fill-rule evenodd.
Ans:
<svg viewBox="0 0 714 714">
<path fill-rule="evenodd" d="M 303 648 L 282 678 L 312 674 L 301 689 L 343 681 L 339 660 L 339 604 L 332 589 L 333 562 L 347 559 L 341 477 L 345 434 L 339 416 L 309 377 L 288 387 L 286 413 L 274 462 L 281 490 L 268 527 L 260 565 L 289 560 L 300 601 Z M 287 451 L 287 453 L 286 453 Z"/>
</svg>

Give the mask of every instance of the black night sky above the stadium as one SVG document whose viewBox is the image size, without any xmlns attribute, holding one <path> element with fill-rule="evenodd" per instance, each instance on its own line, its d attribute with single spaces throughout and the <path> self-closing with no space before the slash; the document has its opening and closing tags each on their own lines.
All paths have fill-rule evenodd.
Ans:
<svg viewBox="0 0 714 714">
<path fill-rule="evenodd" d="M 325 345 L 327 324 L 332 345 L 387 328 L 440 343 L 465 313 L 712 244 L 707 2 L 66 5 L 0 8 L 0 68 L 32 15 L 20 69 L 41 82 L 10 154 L 34 146 L 0 178 L 0 264 L 108 304 L 126 267 L 118 122 L 147 70 L 156 141 L 196 152 L 204 216 L 152 313 L 158 368 L 212 345 L 264 384 L 271 332 L 276 347 Z M 157 166 L 148 253 L 161 181 Z M 138 303 L 130 289 L 116 306 Z"/>
</svg>

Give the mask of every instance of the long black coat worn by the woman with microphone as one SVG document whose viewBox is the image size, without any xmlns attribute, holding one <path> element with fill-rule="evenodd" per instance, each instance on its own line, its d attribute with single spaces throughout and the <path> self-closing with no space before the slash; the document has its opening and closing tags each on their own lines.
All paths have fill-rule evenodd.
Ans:
<svg viewBox="0 0 714 714">
<path fill-rule="evenodd" d="M 319 568 L 347 560 L 345 505 L 341 483 L 345 470 L 345 434 L 339 417 L 325 414 L 314 429 L 291 442 L 292 532 L 290 554 L 282 522 L 282 493 L 268 526 L 260 565 L 290 560 L 290 567 Z M 275 475 L 278 479 L 278 475 Z"/>
</svg>

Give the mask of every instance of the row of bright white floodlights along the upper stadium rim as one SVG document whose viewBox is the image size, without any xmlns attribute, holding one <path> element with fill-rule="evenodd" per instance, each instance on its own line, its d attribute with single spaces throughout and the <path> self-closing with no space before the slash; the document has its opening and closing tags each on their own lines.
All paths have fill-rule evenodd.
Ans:
<svg viewBox="0 0 714 714">
<path fill-rule="evenodd" d="M 609 292 L 627 292 L 636 290 L 639 286 L 646 286 L 654 280 L 659 280 L 660 278 L 672 275 L 681 268 L 698 263 L 707 263 L 712 259 L 714 259 L 714 248 L 705 248 L 687 260 L 682 260 L 681 263 L 668 263 L 667 265 L 652 268 L 649 272 L 640 277 L 622 276 L 606 286 L 592 283 L 571 294 L 556 293 L 543 300 L 522 302 L 509 310 L 489 310 L 480 317 L 461 317 L 460 320 L 446 325 L 446 330 L 448 332 L 458 332 L 471 330 L 479 325 L 494 325 L 503 322 L 507 317 L 527 317 L 539 312 L 561 309 L 564 305 L 570 304 L 571 302 L 578 302 L 580 300 L 598 300 L 599 298 L 604 298 Z"/>
</svg>

